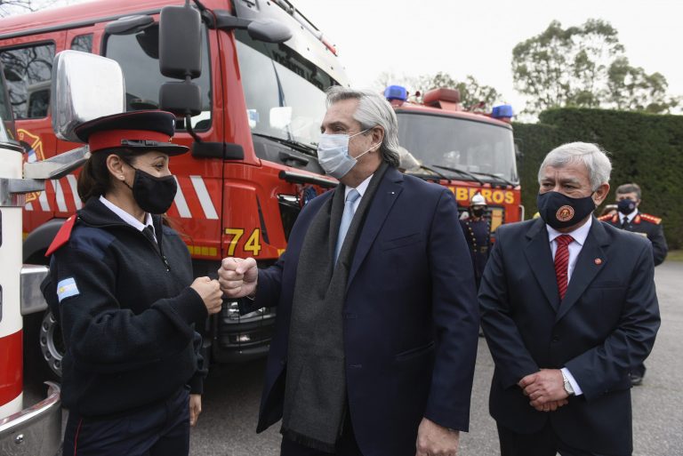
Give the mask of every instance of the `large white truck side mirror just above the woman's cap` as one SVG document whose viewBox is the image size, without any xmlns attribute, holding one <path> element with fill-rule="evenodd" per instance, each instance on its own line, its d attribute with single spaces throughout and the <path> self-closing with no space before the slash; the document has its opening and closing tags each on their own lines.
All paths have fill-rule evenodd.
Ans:
<svg viewBox="0 0 683 456">
<path fill-rule="evenodd" d="M 52 68 L 52 130 L 60 140 L 81 142 L 77 125 L 125 111 L 124 73 L 115 60 L 62 51 Z"/>
</svg>

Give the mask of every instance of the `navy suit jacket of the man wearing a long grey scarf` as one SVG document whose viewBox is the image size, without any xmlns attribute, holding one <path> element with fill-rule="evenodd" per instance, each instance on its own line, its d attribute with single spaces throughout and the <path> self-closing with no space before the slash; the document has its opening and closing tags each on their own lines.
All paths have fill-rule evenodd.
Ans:
<svg viewBox="0 0 683 456">
<path fill-rule="evenodd" d="M 297 262 L 310 221 L 331 196 L 303 208 L 248 306 L 277 305 L 258 431 L 282 417 Z M 358 238 L 344 317 L 349 410 L 364 455 L 414 456 L 422 417 L 467 430 L 478 308 L 450 191 L 387 170 Z"/>
</svg>

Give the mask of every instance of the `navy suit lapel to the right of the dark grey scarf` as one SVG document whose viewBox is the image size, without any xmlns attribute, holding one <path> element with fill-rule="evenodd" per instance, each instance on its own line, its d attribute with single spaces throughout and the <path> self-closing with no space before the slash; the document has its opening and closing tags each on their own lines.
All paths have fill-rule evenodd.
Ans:
<svg viewBox="0 0 683 456">
<path fill-rule="evenodd" d="M 360 232 L 358 244 L 356 245 L 356 252 L 353 254 L 347 288 L 353 281 L 353 277 L 356 276 L 363 260 L 366 259 L 367 252 L 370 251 L 375 237 L 377 237 L 380 229 L 382 229 L 384 220 L 387 219 L 391 207 L 393 207 L 402 190 L 403 175 L 395 168 L 390 167 L 386 174 L 384 174 L 384 178 L 374 194 L 372 204 L 368 208 L 366 220 L 363 223 L 363 230 Z"/>
</svg>

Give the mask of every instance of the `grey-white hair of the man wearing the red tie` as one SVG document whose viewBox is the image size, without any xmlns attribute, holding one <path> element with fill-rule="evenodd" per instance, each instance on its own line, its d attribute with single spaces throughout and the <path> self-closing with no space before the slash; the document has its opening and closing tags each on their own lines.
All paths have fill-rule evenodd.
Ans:
<svg viewBox="0 0 683 456">
<path fill-rule="evenodd" d="M 609 183 L 612 163 L 604 150 L 590 142 L 568 142 L 550 150 L 538 170 L 538 183 L 541 183 L 546 166 L 562 168 L 570 163 L 583 163 L 586 166 L 593 191 L 600 185 Z"/>
</svg>

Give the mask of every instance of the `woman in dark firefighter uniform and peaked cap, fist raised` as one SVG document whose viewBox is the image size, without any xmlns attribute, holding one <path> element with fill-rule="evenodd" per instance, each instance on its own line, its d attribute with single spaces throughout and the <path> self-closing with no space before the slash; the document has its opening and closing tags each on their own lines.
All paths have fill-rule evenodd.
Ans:
<svg viewBox="0 0 683 456">
<path fill-rule="evenodd" d="M 189 252 L 165 226 L 176 181 L 175 117 L 139 111 L 76 128 L 91 157 L 83 209 L 55 237 L 44 295 L 66 344 L 64 455 L 182 455 L 206 369 L 196 324 L 221 309 L 218 282 L 193 281 Z"/>
</svg>

